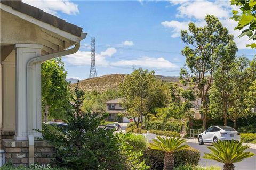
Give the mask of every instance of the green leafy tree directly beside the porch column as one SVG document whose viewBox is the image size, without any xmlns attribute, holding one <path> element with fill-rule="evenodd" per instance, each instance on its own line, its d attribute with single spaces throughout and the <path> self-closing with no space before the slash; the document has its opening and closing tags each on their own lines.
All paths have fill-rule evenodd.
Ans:
<svg viewBox="0 0 256 170">
<path fill-rule="evenodd" d="M 67 72 L 61 58 L 54 58 L 42 64 L 42 115 L 46 122 L 49 117 L 65 118 L 63 105 L 70 98 L 69 82 L 66 81 Z"/>
</svg>

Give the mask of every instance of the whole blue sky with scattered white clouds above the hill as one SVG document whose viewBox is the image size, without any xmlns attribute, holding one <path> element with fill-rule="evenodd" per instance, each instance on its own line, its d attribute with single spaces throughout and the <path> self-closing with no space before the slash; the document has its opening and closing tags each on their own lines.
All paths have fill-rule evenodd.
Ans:
<svg viewBox="0 0 256 170">
<path fill-rule="evenodd" d="M 229 20 L 229 1 L 23 1 L 78 25 L 87 32 L 80 50 L 63 57 L 69 78 L 89 77 L 91 37 L 95 37 L 97 75 L 155 70 L 159 75 L 179 75 L 185 57 L 180 30 L 189 22 L 205 24 L 214 14 L 236 36 L 236 22 Z M 238 55 L 252 59 L 255 50 L 246 48 L 247 38 L 235 39 Z"/>
</svg>

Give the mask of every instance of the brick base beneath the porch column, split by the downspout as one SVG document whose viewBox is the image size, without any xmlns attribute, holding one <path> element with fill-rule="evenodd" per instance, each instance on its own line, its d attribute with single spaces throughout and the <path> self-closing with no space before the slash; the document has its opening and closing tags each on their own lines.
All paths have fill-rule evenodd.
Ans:
<svg viewBox="0 0 256 170">
<path fill-rule="evenodd" d="M 2 139 L 5 150 L 5 162 L 14 165 L 28 165 L 28 141 L 15 141 L 14 139 Z M 46 141 L 35 140 L 35 163 L 54 164 L 56 149 Z"/>
</svg>

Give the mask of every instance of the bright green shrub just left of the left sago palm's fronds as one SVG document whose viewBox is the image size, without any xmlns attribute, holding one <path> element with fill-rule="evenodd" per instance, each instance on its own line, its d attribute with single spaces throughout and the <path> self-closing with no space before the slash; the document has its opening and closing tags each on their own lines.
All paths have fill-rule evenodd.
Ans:
<svg viewBox="0 0 256 170">
<path fill-rule="evenodd" d="M 143 151 L 147 147 L 147 142 L 145 137 L 142 135 L 135 135 L 133 133 L 122 133 L 119 134 L 119 136 L 122 138 L 122 141 L 127 142 L 130 146 L 133 147 L 134 151 Z"/>
</svg>

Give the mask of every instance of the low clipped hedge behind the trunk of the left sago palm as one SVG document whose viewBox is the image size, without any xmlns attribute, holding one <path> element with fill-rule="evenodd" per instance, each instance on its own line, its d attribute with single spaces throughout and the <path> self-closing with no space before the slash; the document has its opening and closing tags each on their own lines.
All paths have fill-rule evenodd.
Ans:
<svg viewBox="0 0 256 170">
<path fill-rule="evenodd" d="M 164 166 L 164 151 L 153 150 L 147 148 L 143 152 L 143 159 L 151 169 L 163 169 Z M 198 165 L 200 159 L 200 152 L 192 147 L 174 152 L 174 166 L 182 165 Z"/>
</svg>

